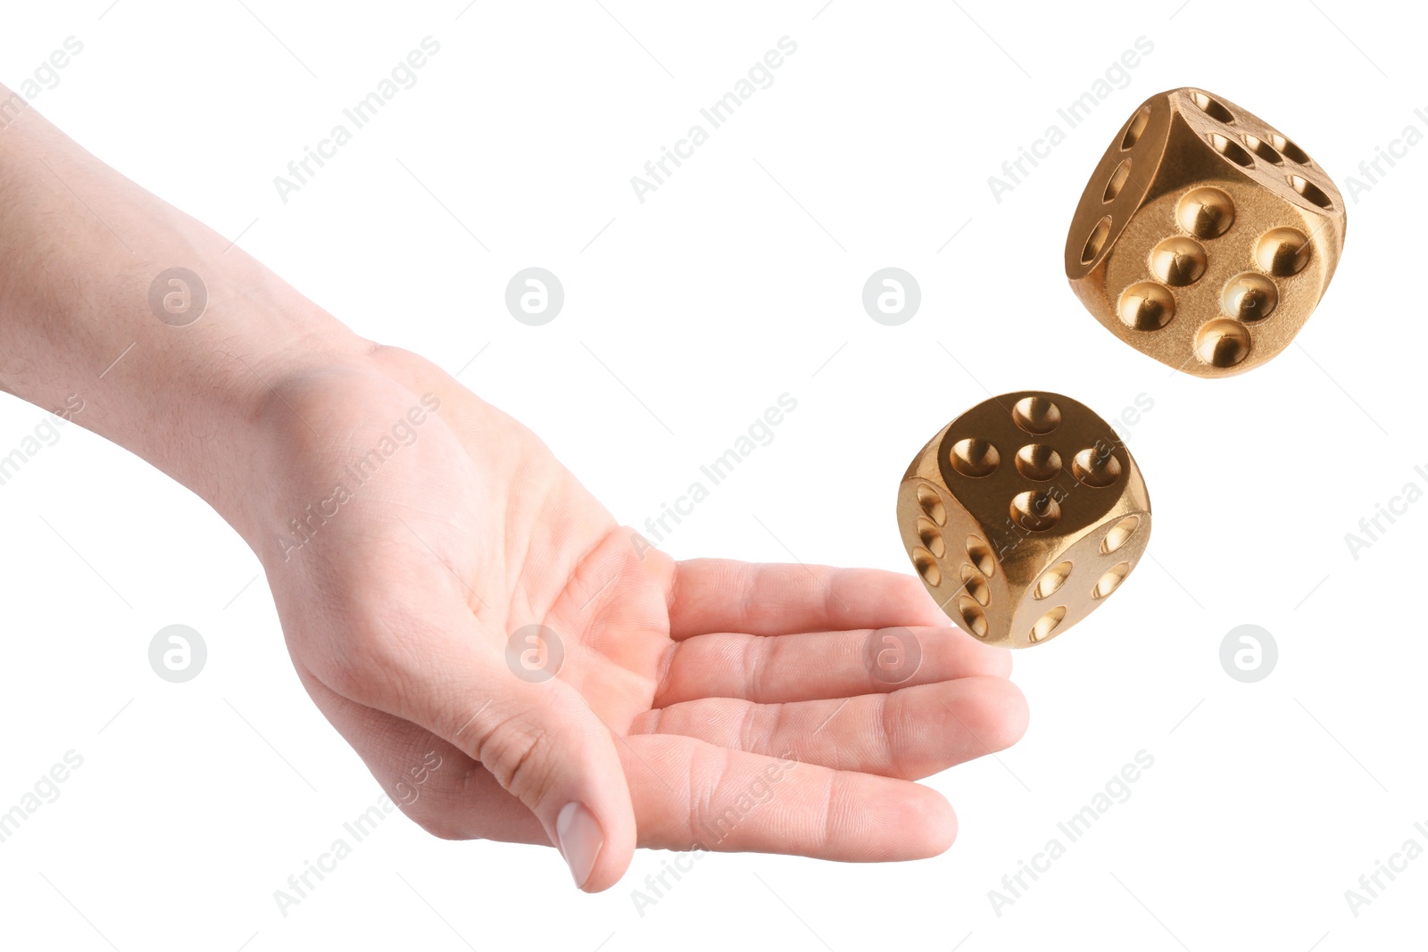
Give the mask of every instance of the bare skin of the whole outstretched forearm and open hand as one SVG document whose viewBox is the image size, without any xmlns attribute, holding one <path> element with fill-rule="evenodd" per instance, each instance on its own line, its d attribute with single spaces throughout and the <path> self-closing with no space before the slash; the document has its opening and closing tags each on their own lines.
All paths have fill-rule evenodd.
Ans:
<svg viewBox="0 0 1428 952">
<path fill-rule="evenodd" d="M 261 559 L 303 685 L 384 789 L 440 756 L 420 796 L 394 795 L 423 828 L 551 845 L 581 804 L 567 861 L 590 892 L 635 846 L 951 845 L 951 806 L 914 781 L 1011 745 L 1027 711 L 1008 654 L 950 628 L 912 577 L 648 548 L 520 422 L 0 91 L 0 387 L 46 410 L 79 394 L 76 422 L 213 505 Z M 149 307 L 176 265 L 208 293 L 186 327 Z M 298 545 L 308 505 L 331 515 Z M 507 664 L 531 624 L 563 649 L 554 678 Z M 868 662 L 888 628 L 921 651 L 895 685 Z"/>
</svg>

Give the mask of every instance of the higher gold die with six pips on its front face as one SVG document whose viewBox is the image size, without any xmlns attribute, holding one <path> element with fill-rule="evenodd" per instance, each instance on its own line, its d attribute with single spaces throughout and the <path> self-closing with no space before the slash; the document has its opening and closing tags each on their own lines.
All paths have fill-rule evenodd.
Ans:
<svg viewBox="0 0 1428 952">
<path fill-rule="evenodd" d="M 1284 350 L 1344 248 L 1344 200 L 1294 141 L 1197 88 L 1150 97 L 1077 206 L 1065 271 L 1131 347 L 1198 377 Z"/>
</svg>

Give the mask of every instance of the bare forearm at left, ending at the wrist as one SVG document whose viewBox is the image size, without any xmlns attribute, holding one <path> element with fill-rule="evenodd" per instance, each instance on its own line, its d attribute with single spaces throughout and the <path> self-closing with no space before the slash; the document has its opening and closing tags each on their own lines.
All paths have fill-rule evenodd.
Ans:
<svg viewBox="0 0 1428 952">
<path fill-rule="evenodd" d="M 273 387 L 370 344 L 4 87 L 0 103 L 0 390 L 83 401 L 76 422 L 223 512 Z M 151 285 L 176 267 L 198 283 L 161 283 L 156 311 Z"/>
</svg>

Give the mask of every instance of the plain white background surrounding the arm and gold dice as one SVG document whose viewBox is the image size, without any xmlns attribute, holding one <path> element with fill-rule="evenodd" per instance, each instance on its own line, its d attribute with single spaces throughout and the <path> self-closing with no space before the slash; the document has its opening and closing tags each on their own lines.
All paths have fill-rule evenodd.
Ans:
<svg viewBox="0 0 1428 952">
<path fill-rule="evenodd" d="M 1357 200 L 1345 181 L 1407 124 L 1428 131 L 1424 23 L 1344 0 L 1178 1 L 7 4 L 0 80 L 17 88 L 77 37 L 36 108 L 358 333 L 460 371 L 628 524 L 794 395 L 665 541 L 677 557 L 907 571 L 898 477 L 988 390 L 1104 417 L 1151 398 L 1128 444 L 1157 518 L 1152 558 L 1104 609 L 1017 654 L 1025 739 L 928 781 L 961 822 L 942 856 L 707 856 L 641 916 L 630 891 L 670 854 L 587 896 L 551 849 L 441 842 L 394 814 L 283 916 L 274 889 L 380 789 L 300 688 L 237 535 L 67 427 L 0 487 L 0 811 L 83 756 L 0 844 L 4 945 L 1421 948 L 1428 858 L 1357 918 L 1344 892 L 1409 836 L 1428 846 L 1428 502 L 1357 561 L 1344 535 L 1428 487 L 1428 146 Z M 273 177 L 426 36 L 441 50 L 418 83 L 281 203 Z M 641 204 L 630 177 L 784 36 L 798 50 L 774 84 Z M 1125 88 L 997 203 L 987 177 L 1141 36 L 1154 51 Z M 1277 124 L 1348 200 L 1322 305 L 1232 380 L 1117 343 L 1062 274 L 1085 176 L 1141 100 L 1182 84 Z M 504 310 L 528 265 L 565 288 L 544 327 Z M 860 301 L 887 265 L 922 290 L 900 327 Z M 41 418 L 0 401 L 0 452 Z M 208 645 L 177 685 L 147 662 L 176 622 Z M 1240 624 L 1279 647 L 1258 684 L 1220 667 Z M 1131 798 L 998 916 L 988 891 L 1142 749 Z"/>
</svg>

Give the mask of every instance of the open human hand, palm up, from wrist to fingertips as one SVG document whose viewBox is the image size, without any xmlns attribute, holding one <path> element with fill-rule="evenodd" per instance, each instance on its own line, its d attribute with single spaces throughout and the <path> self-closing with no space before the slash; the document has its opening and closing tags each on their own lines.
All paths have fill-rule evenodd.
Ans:
<svg viewBox="0 0 1428 952">
<path fill-rule="evenodd" d="M 1025 729 L 1010 655 L 912 577 L 674 562 L 414 354 L 294 371 L 256 432 L 226 515 L 307 691 L 384 788 L 420 769 L 394 799 L 438 836 L 555 844 L 591 892 L 637 845 L 930 856 L 955 819 L 910 781 Z M 526 625 L 544 671 L 508 664 Z M 921 652 L 900 684 L 868 662 L 888 628 Z"/>
</svg>

